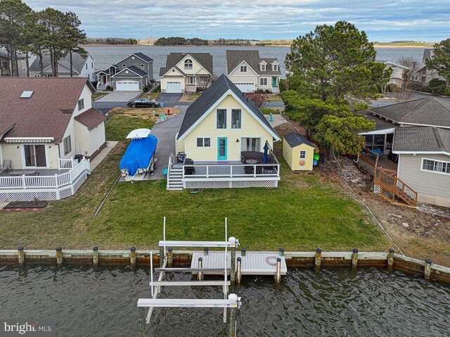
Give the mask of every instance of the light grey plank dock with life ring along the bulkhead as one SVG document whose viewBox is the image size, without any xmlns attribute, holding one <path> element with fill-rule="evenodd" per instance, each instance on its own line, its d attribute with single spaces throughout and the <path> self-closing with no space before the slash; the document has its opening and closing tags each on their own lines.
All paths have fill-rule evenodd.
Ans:
<svg viewBox="0 0 450 337">
<path fill-rule="evenodd" d="M 231 269 L 231 253 L 227 253 L 227 268 Z M 198 257 L 203 258 L 203 268 L 217 269 L 224 268 L 224 253 L 223 252 L 209 252 L 207 255 L 203 252 L 194 252 L 192 254 L 191 268 L 198 268 Z M 275 252 L 247 252 L 242 256 L 240 251 L 236 252 L 236 260 L 241 258 L 241 274 L 242 275 L 275 275 L 276 274 L 276 259 L 281 257 L 281 275 L 288 272 L 286 260 L 284 256 L 280 256 Z M 236 264 L 237 265 L 237 264 Z M 193 272 L 196 274 L 196 272 Z M 203 272 L 203 274 L 224 274 L 221 272 Z"/>
</svg>

